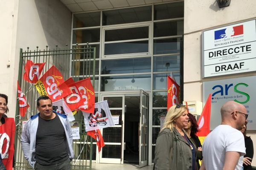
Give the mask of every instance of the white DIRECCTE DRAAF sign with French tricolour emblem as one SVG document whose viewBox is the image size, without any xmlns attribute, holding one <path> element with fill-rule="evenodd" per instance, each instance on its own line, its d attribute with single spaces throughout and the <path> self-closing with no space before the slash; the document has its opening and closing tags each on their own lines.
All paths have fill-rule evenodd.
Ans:
<svg viewBox="0 0 256 170">
<path fill-rule="evenodd" d="M 203 31 L 204 77 L 256 71 L 256 20 Z"/>
</svg>

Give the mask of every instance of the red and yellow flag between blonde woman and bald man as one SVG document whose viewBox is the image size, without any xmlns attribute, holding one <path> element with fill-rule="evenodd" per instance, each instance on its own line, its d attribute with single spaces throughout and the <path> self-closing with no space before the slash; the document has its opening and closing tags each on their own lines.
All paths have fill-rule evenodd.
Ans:
<svg viewBox="0 0 256 170">
<path fill-rule="evenodd" d="M 204 142 L 205 137 L 210 133 L 211 103 L 212 94 L 209 94 L 201 116 L 198 120 L 199 132 L 196 135 L 198 136 L 201 143 Z"/>
</svg>

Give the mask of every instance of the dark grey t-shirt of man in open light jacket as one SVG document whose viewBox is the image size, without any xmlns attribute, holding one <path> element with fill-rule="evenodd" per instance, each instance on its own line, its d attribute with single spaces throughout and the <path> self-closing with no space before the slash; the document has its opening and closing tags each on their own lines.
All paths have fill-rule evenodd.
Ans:
<svg viewBox="0 0 256 170">
<path fill-rule="evenodd" d="M 54 119 L 44 120 L 38 116 L 36 132 L 36 161 L 42 165 L 52 165 L 69 158 L 65 144 L 65 130 L 58 115 Z"/>
</svg>

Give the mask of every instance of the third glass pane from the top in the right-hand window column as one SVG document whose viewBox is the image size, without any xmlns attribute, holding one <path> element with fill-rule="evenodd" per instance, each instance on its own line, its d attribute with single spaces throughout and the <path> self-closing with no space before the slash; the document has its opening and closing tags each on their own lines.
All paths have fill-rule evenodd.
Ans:
<svg viewBox="0 0 256 170">
<path fill-rule="evenodd" d="M 154 40 L 154 54 L 169 54 L 180 52 L 180 38 Z"/>
</svg>

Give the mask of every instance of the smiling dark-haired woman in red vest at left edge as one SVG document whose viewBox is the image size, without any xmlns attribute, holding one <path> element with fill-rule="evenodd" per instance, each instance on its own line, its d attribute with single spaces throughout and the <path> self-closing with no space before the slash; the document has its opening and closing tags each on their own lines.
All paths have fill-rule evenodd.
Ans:
<svg viewBox="0 0 256 170">
<path fill-rule="evenodd" d="M 4 140 L 2 147 L 6 147 L 5 153 L 0 154 L 1 164 L 0 170 L 12 170 L 14 167 L 14 136 L 15 136 L 15 121 L 14 118 L 7 118 L 5 113 L 9 111 L 7 107 L 8 96 L 0 94 L 0 133 L 6 134 L 9 141 Z"/>
</svg>

